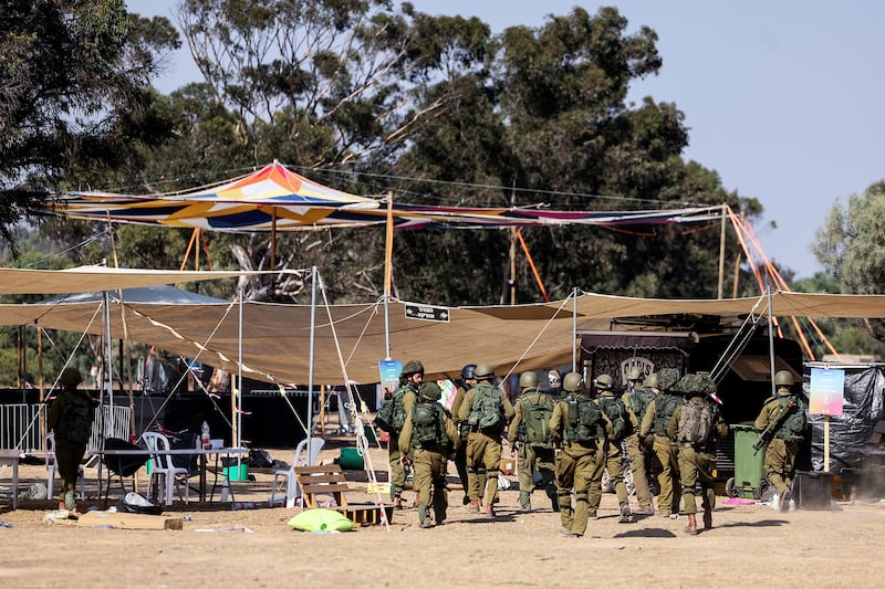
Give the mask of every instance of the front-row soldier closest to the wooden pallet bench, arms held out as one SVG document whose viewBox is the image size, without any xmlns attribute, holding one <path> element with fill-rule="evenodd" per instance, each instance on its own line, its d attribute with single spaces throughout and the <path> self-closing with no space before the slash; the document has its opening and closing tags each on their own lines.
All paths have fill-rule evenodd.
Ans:
<svg viewBox="0 0 885 589">
<path fill-rule="evenodd" d="M 399 434 L 399 452 L 413 456 L 418 522 L 423 528 L 434 527 L 429 514 L 431 501 L 436 525 L 446 519 L 448 455 L 459 442 L 455 422 L 438 402 L 441 396 L 439 385 L 424 382 L 418 402 L 406 417 Z"/>
</svg>

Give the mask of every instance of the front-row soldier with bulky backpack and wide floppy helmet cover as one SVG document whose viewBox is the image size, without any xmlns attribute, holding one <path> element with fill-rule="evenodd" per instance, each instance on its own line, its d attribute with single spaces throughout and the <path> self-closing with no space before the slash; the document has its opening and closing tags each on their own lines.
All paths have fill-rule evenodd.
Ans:
<svg viewBox="0 0 885 589">
<path fill-rule="evenodd" d="M 688 398 L 673 412 L 667 434 L 679 448 L 679 477 L 688 526 L 685 532 L 698 534 L 695 514 L 696 495 L 704 507 L 704 529 L 712 529 L 712 508 L 716 507 L 712 467 L 716 464 L 716 442 L 728 435 L 728 425 L 719 408 L 707 399 L 716 395 L 716 383 L 708 376 L 686 375 L 674 387 Z"/>
</svg>

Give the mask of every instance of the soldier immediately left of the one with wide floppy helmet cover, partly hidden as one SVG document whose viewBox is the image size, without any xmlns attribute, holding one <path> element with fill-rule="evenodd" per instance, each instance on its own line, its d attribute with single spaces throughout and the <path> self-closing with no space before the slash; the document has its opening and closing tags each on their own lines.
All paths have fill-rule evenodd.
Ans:
<svg viewBox="0 0 885 589">
<path fill-rule="evenodd" d="M 670 393 L 670 389 L 679 380 L 679 371 L 675 368 L 663 368 L 657 374 L 660 393 L 648 404 L 639 428 L 639 439 L 646 449 L 652 448 L 660 461 L 657 475 L 660 493 L 657 496 L 657 511 L 671 519 L 679 518 L 679 462 L 676 444 L 667 435 L 667 428 L 674 411 L 683 402 L 680 397 Z M 654 441 L 648 437 L 654 434 Z M 649 443 L 650 442 L 650 443 Z"/>
</svg>

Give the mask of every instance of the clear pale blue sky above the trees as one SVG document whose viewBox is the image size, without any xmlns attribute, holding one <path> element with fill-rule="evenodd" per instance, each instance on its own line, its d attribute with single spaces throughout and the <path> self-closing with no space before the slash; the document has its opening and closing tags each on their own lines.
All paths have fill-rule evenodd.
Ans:
<svg viewBox="0 0 885 589">
<path fill-rule="evenodd" d="M 176 0 L 127 0 L 129 10 L 175 19 Z M 625 0 L 413 0 L 430 14 L 476 15 L 500 32 L 546 14 L 615 6 L 628 31 L 658 34 L 660 73 L 636 84 L 685 113 L 685 151 L 719 172 L 728 190 L 766 208 L 756 233 L 769 257 L 810 277 L 810 251 L 837 200 L 883 178 L 885 2 Z M 180 52 L 157 82 L 169 92 L 197 76 Z"/>
</svg>

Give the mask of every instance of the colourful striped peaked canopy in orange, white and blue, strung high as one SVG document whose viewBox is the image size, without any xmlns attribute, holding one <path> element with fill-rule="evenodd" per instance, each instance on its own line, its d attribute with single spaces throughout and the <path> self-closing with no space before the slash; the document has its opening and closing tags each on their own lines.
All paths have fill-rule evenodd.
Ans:
<svg viewBox="0 0 885 589">
<path fill-rule="evenodd" d="M 325 187 L 274 162 L 215 187 L 180 193 L 59 196 L 55 212 L 74 219 L 222 232 L 309 231 L 384 224 L 382 199 Z M 720 220 L 721 207 L 641 211 L 553 211 L 394 202 L 397 229 L 502 228 L 566 224 L 662 224 Z"/>
</svg>

